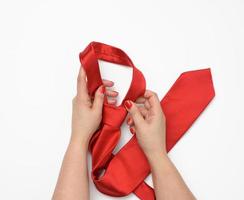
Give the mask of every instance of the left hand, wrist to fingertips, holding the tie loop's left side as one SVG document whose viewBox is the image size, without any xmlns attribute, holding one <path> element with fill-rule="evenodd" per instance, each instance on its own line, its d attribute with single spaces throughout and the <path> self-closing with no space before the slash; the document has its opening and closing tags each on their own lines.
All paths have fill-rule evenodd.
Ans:
<svg viewBox="0 0 244 200">
<path fill-rule="evenodd" d="M 118 96 L 118 92 L 105 88 L 113 85 L 112 81 L 103 80 L 103 85 L 97 89 L 95 96 L 89 96 L 86 73 L 83 67 L 80 67 L 77 79 L 77 95 L 73 99 L 71 140 L 78 140 L 78 143 L 88 146 L 92 134 L 98 129 L 102 120 L 104 97 L 110 97 L 108 99 L 109 104 L 116 104 L 115 98 Z"/>
</svg>

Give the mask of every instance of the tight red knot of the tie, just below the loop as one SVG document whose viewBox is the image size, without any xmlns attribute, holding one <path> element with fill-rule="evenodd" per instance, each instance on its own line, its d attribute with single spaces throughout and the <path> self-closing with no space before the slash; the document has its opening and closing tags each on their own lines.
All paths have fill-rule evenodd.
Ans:
<svg viewBox="0 0 244 200">
<path fill-rule="evenodd" d="M 112 106 L 104 104 L 103 123 L 112 127 L 120 128 L 127 115 L 127 110 L 123 106 Z"/>
</svg>

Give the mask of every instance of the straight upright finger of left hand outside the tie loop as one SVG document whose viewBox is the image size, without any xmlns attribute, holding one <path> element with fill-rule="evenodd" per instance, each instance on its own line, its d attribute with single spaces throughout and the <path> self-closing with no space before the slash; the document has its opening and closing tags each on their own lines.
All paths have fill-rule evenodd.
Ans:
<svg viewBox="0 0 244 200">
<path fill-rule="evenodd" d="M 86 72 L 83 67 L 80 67 L 79 75 L 77 78 L 77 97 L 81 100 L 90 100 L 86 85 Z"/>
</svg>

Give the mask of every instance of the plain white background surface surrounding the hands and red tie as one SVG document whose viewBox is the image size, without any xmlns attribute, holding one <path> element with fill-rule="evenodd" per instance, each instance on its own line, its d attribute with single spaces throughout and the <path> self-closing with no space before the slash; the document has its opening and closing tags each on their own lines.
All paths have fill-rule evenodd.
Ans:
<svg viewBox="0 0 244 200">
<path fill-rule="evenodd" d="M 211 67 L 216 97 L 170 157 L 198 199 L 244 199 L 243 11 L 241 0 L 1 0 L 0 199 L 51 198 L 90 41 L 125 50 L 160 98 L 181 72 Z M 131 71 L 101 68 L 123 98 Z M 115 198 L 91 183 L 91 199 Z"/>
</svg>

